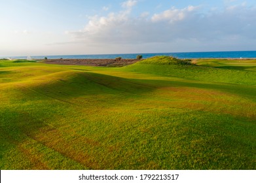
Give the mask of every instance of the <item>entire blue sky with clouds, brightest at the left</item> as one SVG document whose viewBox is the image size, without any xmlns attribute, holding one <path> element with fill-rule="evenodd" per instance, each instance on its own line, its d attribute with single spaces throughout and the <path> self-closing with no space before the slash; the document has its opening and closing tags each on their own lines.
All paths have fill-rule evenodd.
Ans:
<svg viewBox="0 0 256 183">
<path fill-rule="evenodd" d="M 0 56 L 256 50 L 255 0 L 0 0 Z"/>
</svg>

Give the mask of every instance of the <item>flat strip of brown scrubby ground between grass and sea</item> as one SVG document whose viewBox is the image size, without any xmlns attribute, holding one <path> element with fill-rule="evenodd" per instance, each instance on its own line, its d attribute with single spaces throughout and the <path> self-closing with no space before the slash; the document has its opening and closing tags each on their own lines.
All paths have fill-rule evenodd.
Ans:
<svg viewBox="0 0 256 183">
<path fill-rule="evenodd" d="M 42 60 L 44 63 L 63 64 L 63 65 L 90 65 L 101 67 L 123 67 L 139 61 L 138 59 L 48 59 Z"/>
</svg>

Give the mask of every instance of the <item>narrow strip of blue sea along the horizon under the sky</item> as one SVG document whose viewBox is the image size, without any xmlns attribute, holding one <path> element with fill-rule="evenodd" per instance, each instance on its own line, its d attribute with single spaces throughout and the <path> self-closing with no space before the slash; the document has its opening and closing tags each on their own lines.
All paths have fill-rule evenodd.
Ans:
<svg viewBox="0 0 256 183">
<path fill-rule="evenodd" d="M 113 59 L 117 57 L 135 59 L 137 55 L 143 58 L 153 56 L 174 56 L 175 58 L 256 58 L 256 51 L 233 51 L 233 52 L 170 52 L 170 53 L 150 53 L 150 54 L 96 54 L 96 55 L 63 55 L 63 56 L 30 56 L 32 59 Z M 26 59 L 27 56 L 10 57 L 12 59 Z"/>
</svg>

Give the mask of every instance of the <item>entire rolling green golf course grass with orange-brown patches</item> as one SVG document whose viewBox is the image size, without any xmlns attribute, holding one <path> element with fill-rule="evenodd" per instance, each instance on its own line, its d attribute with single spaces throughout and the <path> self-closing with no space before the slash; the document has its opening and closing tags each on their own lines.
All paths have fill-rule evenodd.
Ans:
<svg viewBox="0 0 256 183">
<path fill-rule="evenodd" d="M 0 61 L 1 169 L 255 169 L 255 61 Z"/>
</svg>

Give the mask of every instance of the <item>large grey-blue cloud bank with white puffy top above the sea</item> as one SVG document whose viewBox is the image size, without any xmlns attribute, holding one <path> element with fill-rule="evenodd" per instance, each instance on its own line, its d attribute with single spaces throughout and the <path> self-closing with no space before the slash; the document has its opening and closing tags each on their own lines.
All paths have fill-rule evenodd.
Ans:
<svg viewBox="0 0 256 183">
<path fill-rule="evenodd" d="M 74 42 L 84 42 L 99 49 L 107 45 L 108 48 L 123 49 L 121 52 L 127 52 L 128 45 L 148 50 L 150 46 L 146 45 L 154 44 L 182 50 L 213 47 L 225 50 L 227 46 L 255 42 L 255 8 L 238 5 L 213 12 L 201 12 L 200 8 L 172 7 L 151 17 L 148 12 L 137 17 L 132 16 L 130 10 L 112 12 L 107 16 L 92 16 L 84 29 L 68 34 L 73 36 Z"/>
</svg>

